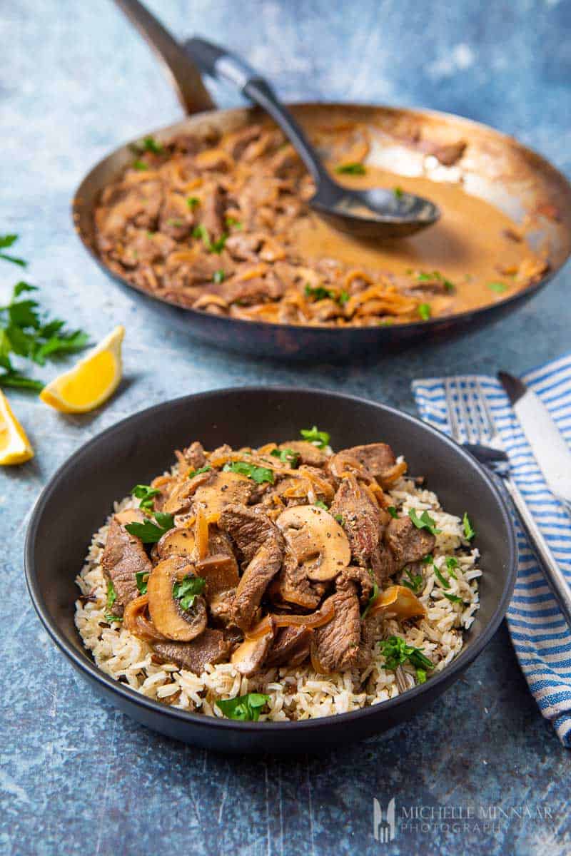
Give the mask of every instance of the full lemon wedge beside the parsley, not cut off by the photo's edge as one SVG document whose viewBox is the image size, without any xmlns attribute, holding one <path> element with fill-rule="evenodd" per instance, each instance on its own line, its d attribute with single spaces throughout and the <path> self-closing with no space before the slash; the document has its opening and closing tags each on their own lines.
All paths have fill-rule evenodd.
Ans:
<svg viewBox="0 0 571 856">
<path fill-rule="evenodd" d="M 61 413 L 87 413 L 107 401 L 121 381 L 124 335 L 121 325 L 112 330 L 77 366 L 47 383 L 40 399 Z"/>
</svg>

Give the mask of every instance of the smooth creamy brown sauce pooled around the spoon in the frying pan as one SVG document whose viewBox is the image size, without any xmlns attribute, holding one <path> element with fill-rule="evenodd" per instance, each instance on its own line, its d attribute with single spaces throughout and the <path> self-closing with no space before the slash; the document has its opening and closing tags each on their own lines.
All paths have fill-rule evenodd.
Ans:
<svg viewBox="0 0 571 856">
<path fill-rule="evenodd" d="M 410 237 L 381 242 L 352 238 L 312 214 L 295 226 L 294 244 L 299 252 L 307 259 L 339 259 L 364 270 L 408 279 L 412 270 L 438 270 L 454 283 L 455 292 L 431 298 L 435 315 L 504 300 L 528 283 L 528 276 L 517 276 L 524 259 L 526 265 L 537 260 L 538 269 L 542 266 L 525 240 L 518 242 L 507 236 L 520 233 L 503 211 L 468 195 L 458 184 L 394 175 L 372 167 L 367 167 L 366 175 L 335 178 L 355 189 L 401 187 L 424 196 L 438 205 L 440 220 Z M 494 290 L 489 283 L 501 283 L 506 288 Z"/>
</svg>

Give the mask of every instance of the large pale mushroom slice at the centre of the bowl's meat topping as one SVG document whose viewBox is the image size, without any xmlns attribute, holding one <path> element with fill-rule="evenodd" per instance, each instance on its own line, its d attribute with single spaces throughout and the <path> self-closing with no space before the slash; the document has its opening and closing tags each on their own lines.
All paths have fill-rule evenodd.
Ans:
<svg viewBox="0 0 571 856">
<path fill-rule="evenodd" d="M 309 580 L 333 580 L 350 564 L 347 535 L 324 508 L 315 505 L 286 508 L 276 525 Z"/>
</svg>

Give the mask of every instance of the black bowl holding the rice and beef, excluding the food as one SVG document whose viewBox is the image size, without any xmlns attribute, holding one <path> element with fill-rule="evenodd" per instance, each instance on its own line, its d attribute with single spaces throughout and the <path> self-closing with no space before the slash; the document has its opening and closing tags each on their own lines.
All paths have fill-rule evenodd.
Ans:
<svg viewBox="0 0 571 856">
<path fill-rule="evenodd" d="M 406 455 L 409 472 L 424 475 L 443 507 L 468 510 L 485 574 L 481 606 L 459 657 L 425 684 L 363 710 L 308 722 L 232 722 L 175 710 L 112 680 L 92 662 L 74 627 L 74 576 L 92 533 L 112 502 L 133 484 L 148 483 L 193 439 L 261 445 L 297 437 L 317 423 L 334 448 L 384 440 Z M 62 511 L 65 510 L 65 514 Z M 460 677 L 490 641 L 514 589 L 517 550 L 502 496 L 477 461 L 439 431 L 391 407 L 319 389 L 220 389 L 167 401 L 124 419 L 86 443 L 39 497 L 26 539 L 27 586 L 51 639 L 94 689 L 121 710 L 170 737 L 227 752 L 318 751 L 377 734 L 419 713 Z"/>
</svg>

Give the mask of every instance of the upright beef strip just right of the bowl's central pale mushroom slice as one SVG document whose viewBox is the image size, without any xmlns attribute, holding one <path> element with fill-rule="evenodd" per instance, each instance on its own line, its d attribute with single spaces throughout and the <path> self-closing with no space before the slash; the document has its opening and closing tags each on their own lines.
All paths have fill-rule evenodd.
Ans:
<svg viewBox="0 0 571 856">
<path fill-rule="evenodd" d="M 340 517 L 351 545 L 354 562 L 363 568 L 371 566 L 372 557 L 378 557 L 383 520 L 380 509 L 353 475 L 341 480 L 331 503 L 330 513 Z M 380 567 L 380 562 L 375 563 Z M 377 571 L 377 568 L 374 569 Z"/>
</svg>

